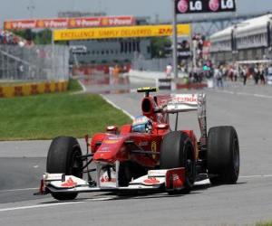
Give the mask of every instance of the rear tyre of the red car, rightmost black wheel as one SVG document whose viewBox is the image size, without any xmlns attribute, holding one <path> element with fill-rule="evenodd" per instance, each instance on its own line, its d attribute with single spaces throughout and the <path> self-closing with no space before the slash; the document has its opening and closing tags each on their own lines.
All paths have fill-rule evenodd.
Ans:
<svg viewBox="0 0 272 226">
<path fill-rule="evenodd" d="M 234 127 L 209 129 L 207 168 L 211 184 L 236 184 L 239 174 L 239 145 Z"/>
</svg>

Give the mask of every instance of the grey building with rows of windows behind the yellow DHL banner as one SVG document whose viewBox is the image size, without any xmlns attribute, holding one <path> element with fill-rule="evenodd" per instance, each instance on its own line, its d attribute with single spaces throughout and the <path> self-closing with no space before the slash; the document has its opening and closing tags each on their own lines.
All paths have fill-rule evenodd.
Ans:
<svg viewBox="0 0 272 226">
<path fill-rule="evenodd" d="M 136 17 L 135 24 L 150 24 L 150 17 Z M 135 57 L 151 59 L 151 38 L 97 39 L 68 44 L 71 65 L 130 64 Z"/>
</svg>

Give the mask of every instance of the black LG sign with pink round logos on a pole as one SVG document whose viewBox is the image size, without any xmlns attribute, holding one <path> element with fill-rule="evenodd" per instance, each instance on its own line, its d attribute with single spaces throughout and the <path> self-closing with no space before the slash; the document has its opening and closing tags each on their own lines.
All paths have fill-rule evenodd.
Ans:
<svg viewBox="0 0 272 226">
<path fill-rule="evenodd" d="M 235 0 L 175 0 L 176 14 L 235 12 Z"/>
</svg>

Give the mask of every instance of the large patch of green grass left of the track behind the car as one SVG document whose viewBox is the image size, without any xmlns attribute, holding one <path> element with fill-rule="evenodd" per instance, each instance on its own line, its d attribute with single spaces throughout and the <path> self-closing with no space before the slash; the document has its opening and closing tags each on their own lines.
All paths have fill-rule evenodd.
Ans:
<svg viewBox="0 0 272 226">
<path fill-rule="evenodd" d="M 70 91 L 78 90 L 74 81 Z M 0 99 L 0 140 L 83 137 L 131 119 L 99 95 L 43 94 Z"/>
</svg>

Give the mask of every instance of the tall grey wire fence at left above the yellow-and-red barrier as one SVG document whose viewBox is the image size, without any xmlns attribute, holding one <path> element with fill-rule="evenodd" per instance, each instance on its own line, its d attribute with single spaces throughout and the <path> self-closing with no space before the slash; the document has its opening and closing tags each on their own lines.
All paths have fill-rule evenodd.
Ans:
<svg viewBox="0 0 272 226">
<path fill-rule="evenodd" d="M 68 80 L 67 46 L 0 45 L 0 80 Z"/>
</svg>

